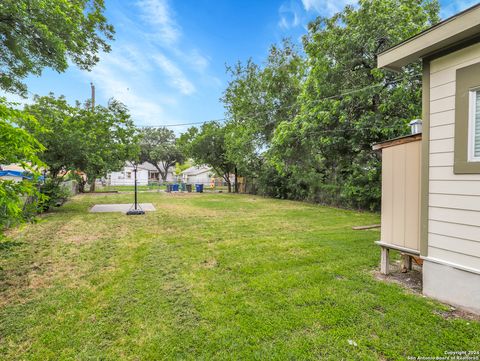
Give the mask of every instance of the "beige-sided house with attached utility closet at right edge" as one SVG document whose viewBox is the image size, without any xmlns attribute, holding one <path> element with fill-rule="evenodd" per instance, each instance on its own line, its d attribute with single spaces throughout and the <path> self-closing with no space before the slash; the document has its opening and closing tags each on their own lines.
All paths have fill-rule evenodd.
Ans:
<svg viewBox="0 0 480 361">
<path fill-rule="evenodd" d="M 423 134 L 382 150 L 382 271 L 420 255 L 423 293 L 480 313 L 480 5 L 378 55 L 423 62 Z M 409 262 L 406 262 L 408 267 Z"/>
</svg>

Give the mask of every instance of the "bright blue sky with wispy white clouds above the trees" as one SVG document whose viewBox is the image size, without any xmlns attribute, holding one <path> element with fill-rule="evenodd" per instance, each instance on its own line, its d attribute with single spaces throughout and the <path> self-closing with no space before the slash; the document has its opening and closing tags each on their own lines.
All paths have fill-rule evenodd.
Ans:
<svg viewBox="0 0 480 361">
<path fill-rule="evenodd" d="M 441 16 L 475 3 L 442 0 Z M 124 102 L 139 126 L 221 119 L 225 64 L 249 57 L 261 62 L 270 44 L 284 37 L 299 41 L 310 20 L 346 4 L 355 1 L 106 0 L 116 29 L 112 52 L 101 54 L 92 72 L 75 66 L 62 74 L 45 70 L 27 85 L 30 94 L 52 91 L 73 102 L 87 99 L 93 82 L 97 103 L 111 97 Z"/>
</svg>

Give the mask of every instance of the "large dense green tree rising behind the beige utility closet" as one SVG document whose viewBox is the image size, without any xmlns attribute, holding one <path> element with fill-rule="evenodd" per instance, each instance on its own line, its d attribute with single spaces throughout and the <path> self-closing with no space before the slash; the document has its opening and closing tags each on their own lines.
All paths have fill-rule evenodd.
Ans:
<svg viewBox="0 0 480 361">
<path fill-rule="evenodd" d="M 377 54 L 437 22 L 438 10 L 429 0 L 360 0 L 309 25 L 301 110 L 277 127 L 269 152 L 294 197 L 378 208 L 380 160 L 371 145 L 407 134 L 421 115 L 421 72 L 419 64 L 379 70 Z"/>
</svg>

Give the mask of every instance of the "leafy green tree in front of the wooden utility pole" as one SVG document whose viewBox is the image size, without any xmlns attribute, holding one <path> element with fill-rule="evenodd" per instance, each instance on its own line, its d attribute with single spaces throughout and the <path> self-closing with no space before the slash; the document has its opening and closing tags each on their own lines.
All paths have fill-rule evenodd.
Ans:
<svg viewBox="0 0 480 361">
<path fill-rule="evenodd" d="M 138 137 L 127 107 L 114 99 L 107 107 L 90 104 L 69 105 L 63 96 L 53 94 L 34 98 L 25 111 L 36 117 L 41 128 L 27 129 L 43 144 L 40 159 L 48 166 L 51 178 L 60 174 L 82 172 L 80 190 L 86 181 L 95 190 L 95 179 L 121 169 L 127 160 L 138 156 Z"/>
</svg>

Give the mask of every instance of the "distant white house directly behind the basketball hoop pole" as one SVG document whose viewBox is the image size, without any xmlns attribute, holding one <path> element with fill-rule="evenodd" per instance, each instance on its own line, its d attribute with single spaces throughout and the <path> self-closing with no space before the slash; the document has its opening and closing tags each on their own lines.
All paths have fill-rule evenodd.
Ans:
<svg viewBox="0 0 480 361">
<path fill-rule="evenodd" d="M 167 182 L 173 182 L 175 176 L 173 168 L 167 174 Z M 142 163 L 137 167 L 137 185 L 148 185 L 149 183 L 162 182 L 162 178 L 155 168 L 150 163 Z M 130 162 L 125 164 L 121 171 L 111 172 L 107 175 L 107 184 L 111 186 L 133 186 L 135 184 L 134 167 Z"/>
</svg>

